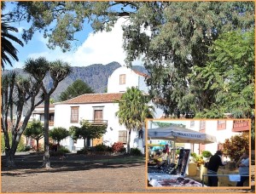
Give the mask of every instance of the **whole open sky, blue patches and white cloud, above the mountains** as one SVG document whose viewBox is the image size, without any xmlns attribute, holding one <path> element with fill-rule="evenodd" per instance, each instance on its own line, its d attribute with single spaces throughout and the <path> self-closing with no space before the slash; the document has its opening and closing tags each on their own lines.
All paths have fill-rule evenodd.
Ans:
<svg viewBox="0 0 256 194">
<path fill-rule="evenodd" d="M 7 3 L 7 9 L 9 8 L 10 4 Z M 112 31 L 97 33 L 92 33 L 90 24 L 86 25 L 84 31 L 79 31 L 75 34 L 75 38 L 78 41 L 73 42 L 73 48 L 67 53 L 62 53 L 60 48 L 55 48 L 55 50 L 47 48 L 47 39 L 43 37 L 43 33 L 37 31 L 32 40 L 25 44 L 24 47 L 14 43 L 19 51 L 19 61 L 14 61 L 13 67 L 22 68 L 28 58 L 38 58 L 40 56 L 49 61 L 67 61 L 71 66 L 106 65 L 112 61 L 117 61 L 123 66 L 125 65 L 125 51 L 122 48 L 122 25 L 125 25 L 125 20 L 119 19 Z M 11 26 L 19 29 L 15 36 L 21 39 L 22 29 L 27 28 L 28 25 L 26 22 L 20 22 L 11 23 Z M 141 61 L 134 61 L 133 65 L 141 65 Z M 12 67 L 6 66 L 5 69 L 12 69 Z"/>
</svg>

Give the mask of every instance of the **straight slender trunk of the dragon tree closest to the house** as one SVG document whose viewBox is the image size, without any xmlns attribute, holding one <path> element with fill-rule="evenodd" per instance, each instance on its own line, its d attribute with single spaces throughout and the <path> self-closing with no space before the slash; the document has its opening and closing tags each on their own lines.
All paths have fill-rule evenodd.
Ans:
<svg viewBox="0 0 256 194">
<path fill-rule="evenodd" d="M 50 168 L 49 161 L 49 94 L 44 94 L 44 162 L 45 168 Z"/>
</svg>

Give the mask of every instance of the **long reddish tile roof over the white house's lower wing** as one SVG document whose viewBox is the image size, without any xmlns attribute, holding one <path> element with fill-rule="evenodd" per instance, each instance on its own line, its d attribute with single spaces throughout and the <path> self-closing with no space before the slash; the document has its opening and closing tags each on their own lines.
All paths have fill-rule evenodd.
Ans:
<svg viewBox="0 0 256 194">
<path fill-rule="evenodd" d="M 121 96 L 122 96 L 122 93 L 83 94 L 73 99 L 62 101 L 55 104 L 60 105 L 60 104 L 109 103 L 109 102 L 114 102 L 115 100 L 120 100 Z"/>
</svg>

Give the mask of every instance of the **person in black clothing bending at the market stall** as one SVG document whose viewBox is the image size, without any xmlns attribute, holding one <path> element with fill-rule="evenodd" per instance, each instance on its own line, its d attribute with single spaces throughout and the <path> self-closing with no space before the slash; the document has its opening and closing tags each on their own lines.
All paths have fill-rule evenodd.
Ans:
<svg viewBox="0 0 256 194">
<path fill-rule="evenodd" d="M 216 151 L 216 153 L 212 157 L 210 157 L 209 163 L 207 165 L 207 174 L 213 176 L 208 176 L 209 186 L 218 186 L 218 176 L 214 175 L 217 174 L 219 166 L 224 166 L 222 156 L 222 151 Z"/>
</svg>

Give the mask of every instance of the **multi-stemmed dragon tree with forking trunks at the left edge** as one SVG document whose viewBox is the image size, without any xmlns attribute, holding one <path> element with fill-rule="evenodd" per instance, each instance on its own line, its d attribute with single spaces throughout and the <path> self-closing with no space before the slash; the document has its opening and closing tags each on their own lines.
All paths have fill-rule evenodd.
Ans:
<svg viewBox="0 0 256 194">
<path fill-rule="evenodd" d="M 32 111 L 44 100 L 36 102 L 36 96 L 40 91 L 40 83 L 32 77 L 22 78 L 15 72 L 9 72 L 2 77 L 1 94 L 1 127 L 3 129 L 5 154 L 7 157 L 7 166 L 15 166 L 15 151 L 20 142 Z M 25 117 L 21 122 L 21 115 L 24 106 L 27 110 Z M 9 139 L 9 133 L 12 135 Z"/>
</svg>

